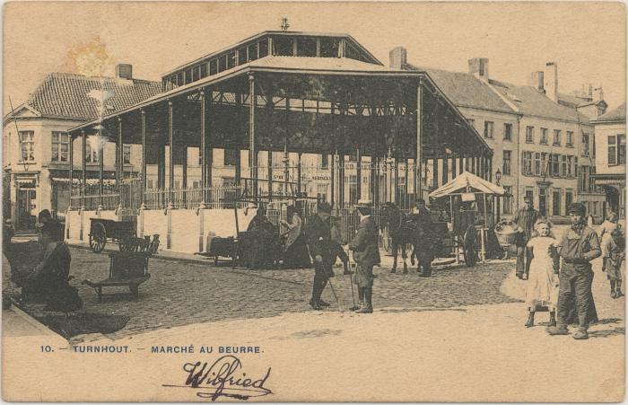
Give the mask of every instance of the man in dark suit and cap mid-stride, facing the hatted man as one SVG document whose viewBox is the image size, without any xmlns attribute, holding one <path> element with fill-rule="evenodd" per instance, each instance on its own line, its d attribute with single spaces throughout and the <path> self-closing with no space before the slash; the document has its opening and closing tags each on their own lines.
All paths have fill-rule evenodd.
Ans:
<svg viewBox="0 0 628 405">
<path fill-rule="evenodd" d="M 314 282 L 310 305 L 315 310 L 329 306 L 320 298 L 320 295 L 327 286 L 329 277 L 334 277 L 331 267 L 332 260 L 336 257 L 331 242 L 329 216 L 331 216 L 331 206 L 327 202 L 322 202 L 318 204 L 317 213 L 310 216 L 305 227 L 310 256 L 314 261 Z"/>
</svg>

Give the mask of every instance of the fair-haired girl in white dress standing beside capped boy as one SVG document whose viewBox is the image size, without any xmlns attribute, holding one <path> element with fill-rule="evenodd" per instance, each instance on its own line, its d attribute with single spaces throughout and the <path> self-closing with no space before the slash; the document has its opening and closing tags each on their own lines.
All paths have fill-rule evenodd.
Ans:
<svg viewBox="0 0 628 405">
<path fill-rule="evenodd" d="M 537 306 L 546 306 L 550 311 L 550 326 L 556 325 L 556 301 L 558 299 L 558 242 L 551 233 L 552 224 L 546 219 L 535 223 L 537 236 L 528 241 L 532 251 L 526 306 L 529 315 L 526 327 L 534 326 L 534 314 Z"/>
</svg>

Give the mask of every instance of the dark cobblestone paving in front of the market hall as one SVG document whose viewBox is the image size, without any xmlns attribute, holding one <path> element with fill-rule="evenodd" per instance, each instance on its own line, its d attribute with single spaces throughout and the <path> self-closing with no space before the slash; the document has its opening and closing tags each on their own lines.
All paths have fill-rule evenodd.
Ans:
<svg viewBox="0 0 628 405">
<path fill-rule="evenodd" d="M 16 246 L 19 246 L 17 244 Z M 23 247 L 31 246 L 31 242 Z M 132 334 L 173 328 L 207 321 L 263 318 L 281 313 L 310 311 L 311 269 L 247 270 L 231 265 L 214 265 L 214 260 L 163 260 L 149 262 L 151 278 L 140 286 L 140 299 L 133 301 L 128 289 L 109 287 L 99 303 L 84 279 L 97 281 L 108 276 L 109 256 L 105 253 L 71 247 L 72 284 L 79 288 L 85 313 L 122 315 L 130 319 L 126 327 L 108 335 L 118 339 Z M 32 255 L 29 256 L 32 258 Z M 202 259 L 201 259 L 202 260 Z M 206 261 L 206 262 L 205 262 Z M 500 293 L 512 262 L 493 262 L 467 269 L 464 266 L 434 269 L 431 278 L 418 277 L 414 269 L 404 275 L 401 269 L 390 274 L 389 267 L 376 268 L 373 304 L 377 309 L 451 308 L 461 305 L 516 302 Z M 332 285 L 343 311 L 353 305 L 350 278 L 336 268 Z M 329 286 L 323 299 L 337 311 Z M 356 298 L 357 299 L 357 298 Z M 29 311 L 45 316 L 43 305 L 29 305 Z"/>
</svg>

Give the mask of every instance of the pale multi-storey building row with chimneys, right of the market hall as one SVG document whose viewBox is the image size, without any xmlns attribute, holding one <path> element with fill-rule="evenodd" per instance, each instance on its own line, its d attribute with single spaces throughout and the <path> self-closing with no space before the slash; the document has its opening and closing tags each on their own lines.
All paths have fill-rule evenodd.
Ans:
<svg viewBox="0 0 628 405">
<path fill-rule="evenodd" d="M 566 220 L 567 207 L 580 200 L 589 212 L 603 216 L 604 196 L 593 186 L 595 138 L 592 117 L 606 110 L 601 89 L 567 95 L 558 92 L 558 69 L 548 63 L 532 73 L 528 85 L 493 79 L 487 58 L 468 61 L 467 73 L 414 66 L 406 49 L 390 51 L 390 66 L 425 71 L 483 134 L 493 148 L 493 171 L 509 192 L 501 207 L 509 216 L 530 196 L 554 221 Z M 432 185 L 434 186 L 434 185 Z"/>
</svg>

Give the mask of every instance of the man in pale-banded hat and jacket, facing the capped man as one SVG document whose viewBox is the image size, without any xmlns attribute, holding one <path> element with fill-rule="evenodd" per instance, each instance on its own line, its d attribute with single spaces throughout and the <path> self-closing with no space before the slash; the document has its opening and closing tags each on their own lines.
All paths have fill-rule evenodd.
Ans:
<svg viewBox="0 0 628 405">
<path fill-rule="evenodd" d="M 364 304 L 356 313 L 372 313 L 373 266 L 380 261 L 378 229 L 371 217 L 371 201 L 360 200 L 355 207 L 360 215 L 360 225 L 349 242 L 349 250 L 353 251 L 353 260 L 357 264 L 355 284 L 358 285 L 360 302 Z"/>
</svg>

